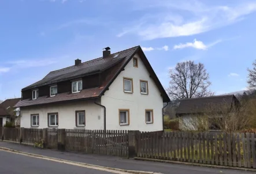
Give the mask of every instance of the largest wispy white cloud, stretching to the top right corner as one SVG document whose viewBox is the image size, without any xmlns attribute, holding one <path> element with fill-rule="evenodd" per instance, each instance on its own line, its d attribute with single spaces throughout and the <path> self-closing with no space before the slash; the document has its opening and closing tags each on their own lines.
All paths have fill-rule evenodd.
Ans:
<svg viewBox="0 0 256 174">
<path fill-rule="evenodd" d="M 117 36 L 121 37 L 133 33 L 141 36 L 144 40 L 196 35 L 241 21 L 246 15 L 256 11 L 256 2 L 241 1 L 240 4 L 234 3 L 233 6 L 207 6 L 198 1 L 188 0 L 179 2 L 166 0 L 130 1 L 135 7 L 139 6 L 141 10 L 151 8 L 152 16 L 142 17 L 138 23 L 142 22 L 143 25 L 138 27 L 135 24 L 135 27 L 123 29 Z M 183 11 L 187 11 L 190 15 L 185 15 L 186 13 L 182 13 Z M 174 12 L 180 13 L 173 14 Z M 173 15 L 179 16 L 179 20 L 170 17 Z"/>
</svg>

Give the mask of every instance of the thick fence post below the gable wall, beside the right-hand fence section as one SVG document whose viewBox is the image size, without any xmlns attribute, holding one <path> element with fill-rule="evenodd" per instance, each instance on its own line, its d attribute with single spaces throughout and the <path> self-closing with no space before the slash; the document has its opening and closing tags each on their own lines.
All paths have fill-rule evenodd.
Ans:
<svg viewBox="0 0 256 174">
<path fill-rule="evenodd" d="M 128 131 L 128 158 L 137 156 L 138 143 L 137 137 L 140 131 Z"/>
</svg>

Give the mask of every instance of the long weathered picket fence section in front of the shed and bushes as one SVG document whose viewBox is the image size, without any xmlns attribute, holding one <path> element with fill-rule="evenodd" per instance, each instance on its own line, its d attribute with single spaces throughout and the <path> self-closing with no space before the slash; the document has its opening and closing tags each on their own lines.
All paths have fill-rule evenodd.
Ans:
<svg viewBox="0 0 256 174">
<path fill-rule="evenodd" d="M 138 157 L 256 168 L 254 133 L 139 133 Z"/>
</svg>

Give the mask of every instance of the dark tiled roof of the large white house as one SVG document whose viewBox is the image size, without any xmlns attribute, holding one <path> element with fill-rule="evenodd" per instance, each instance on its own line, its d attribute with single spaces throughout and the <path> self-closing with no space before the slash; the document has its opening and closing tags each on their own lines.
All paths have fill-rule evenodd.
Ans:
<svg viewBox="0 0 256 174">
<path fill-rule="evenodd" d="M 38 97 L 36 100 L 25 99 L 21 100 L 19 103 L 15 105 L 15 107 L 25 107 L 30 105 L 41 105 L 48 103 L 58 103 L 63 101 L 72 101 L 72 100 L 82 100 L 82 99 L 91 99 L 95 97 L 100 97 L 109 88 L 110 84 L 114 81 L 117 75 L 121 72 L 125 65 L 131 60 L 133 55 L 139 52 L 140 56 L 142 56 L 142 60 L 146 63 L 147 70 L 152 74 L 152 78 L 157 84 L 158 89 L 161 91 L 162 96 L 164 97 L 164 101 L 169 101 L 169 97 L 166 94 L 164 88 L 159 82 L 157 75 L 155 75 L 154 70 L 150 66 L 146 56 L 144 55 L 140 46 L 132 47 L 124 51 L 116 52 L 107 56 L 107 58 L 98 58 L 94 60 L 90 60 L 88 62 L 81 63 L 79 66 L 70 66 L 65 69 L 51 71 L 46 75 L 42 80 L 27 86 L 23 90 L 36 88 L 43 85 L 54 84 L 59 81 L 69 80 L 73 78 L 83 77 L 83 75 L 91 74 L 97 71 L 105 71 L 111 67 L 111 71 L 108 71 L 105 81 L 102 82 L 99 88 L 90 88 L 83 89 L 79 93 L 59 93 L 54 97 Z M 118 55 L 114 58 L 115 55 Z M 105 72 L 103 72 L 105 73 Z"/>
</svg>

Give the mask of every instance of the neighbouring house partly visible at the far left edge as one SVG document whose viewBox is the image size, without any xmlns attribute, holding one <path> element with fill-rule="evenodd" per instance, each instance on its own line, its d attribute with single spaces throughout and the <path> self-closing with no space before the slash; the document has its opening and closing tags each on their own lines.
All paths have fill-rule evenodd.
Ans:
<svg viewBox="0 0 256 174">
<path fill-rule="evenodd" d="M 10 121 L 14 111 L 13 107 L 18 101 L 20 101 L 20 98 L 7 99 L 0 104 L 0 127 L 3 127 L 6 121 Z"/>
</svg>

